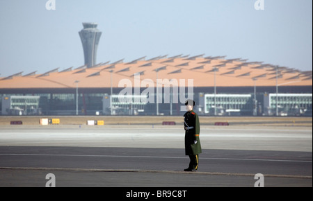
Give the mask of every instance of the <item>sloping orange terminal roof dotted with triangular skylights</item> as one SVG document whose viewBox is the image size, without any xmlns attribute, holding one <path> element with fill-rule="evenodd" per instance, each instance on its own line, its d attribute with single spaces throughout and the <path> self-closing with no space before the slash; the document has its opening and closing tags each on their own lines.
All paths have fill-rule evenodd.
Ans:
<svg viewBox="0 0 313 201">
<path fill-rule="evenodd" d="M 157 72 L 157 69 L 162 70 Z M 140 80 L 150 79 L 156 85 L 159 79 L 193 79 L 193 87 L 214 87 L 214 69 L 216 71 L 217 87 L 253 87 L 276 86 L 276 69 L 271 64 L 262 62 L 246 62 L 246 60 L 225 57 L 194 57 L 178 55 L 172 58 L 166 56 L 145 60 L 145 57 L 132 62 L 97 64 L 92 68 L 54 69 L 47 73 L 29 73 L 0 78 L 0 89 L 62 89 L 76 88 L 117 88 L 122 79 L 130 80 L 134 87 L 134 74 L 140 73 Z M 256 79 L 254 81 L 253 79 Z M 121 84 L 121 82 L 120 82 Z M 312 71 L 299 71 L 287 67 L 278 67 L 279 86 L 312 86 Z M 121 86 L 124 88 L 125 86 Z M 145 86 L 141 86 L 145 88 Z"/>
</svg>

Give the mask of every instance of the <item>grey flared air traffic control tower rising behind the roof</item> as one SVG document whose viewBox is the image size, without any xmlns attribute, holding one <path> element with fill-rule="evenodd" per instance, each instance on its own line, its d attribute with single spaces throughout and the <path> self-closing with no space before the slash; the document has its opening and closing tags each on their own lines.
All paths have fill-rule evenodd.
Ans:
<svg viewBox="0 0 313 201">
<path fill-rule="evenodd" d="M 83 30 L 79 32 L 83 44 L 83 55 L 87 68 L 93 67 L 97 60 L 97 49 L 102 32 L 96 23 L 83 23 Z"/>
</svg>

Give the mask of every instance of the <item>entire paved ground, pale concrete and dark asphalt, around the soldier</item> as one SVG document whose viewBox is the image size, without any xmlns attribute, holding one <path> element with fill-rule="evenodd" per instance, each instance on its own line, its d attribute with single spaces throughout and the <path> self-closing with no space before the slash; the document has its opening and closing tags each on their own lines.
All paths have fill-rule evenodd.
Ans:
<svg viewBox="0 0 313 201">
<path fill-rule="evenodd" d="M 181 128 L 2 128 L 0 186 L 312 186 L 312 129 L 204 128 L 184 173 Z"/>
</svg>

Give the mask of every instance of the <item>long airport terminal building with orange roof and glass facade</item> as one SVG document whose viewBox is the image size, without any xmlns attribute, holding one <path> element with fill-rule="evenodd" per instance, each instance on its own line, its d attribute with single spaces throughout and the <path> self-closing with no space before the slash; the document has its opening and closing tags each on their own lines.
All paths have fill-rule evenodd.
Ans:
<svg viewBox="0 0 313 201">
<path fill-rule="evenodd" d="M 0 78 L 1 115 L 312 116 L 312 71 L 168 55 Z"/>
</svg>

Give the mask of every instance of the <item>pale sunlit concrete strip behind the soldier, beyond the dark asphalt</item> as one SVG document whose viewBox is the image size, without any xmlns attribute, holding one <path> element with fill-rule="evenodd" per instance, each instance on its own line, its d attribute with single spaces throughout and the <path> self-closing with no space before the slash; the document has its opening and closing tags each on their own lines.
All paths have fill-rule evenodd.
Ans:
<svg viewBox="0 0 313 201">
<path fill-rule="evenodd" d="M 312 152 L 312 129 L 204 128 L 204 149 Z M 4 128 L 0 146 L 184 148 L 181 128 Z"/>
</svg>

